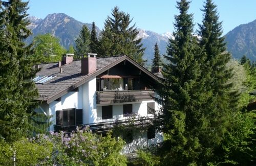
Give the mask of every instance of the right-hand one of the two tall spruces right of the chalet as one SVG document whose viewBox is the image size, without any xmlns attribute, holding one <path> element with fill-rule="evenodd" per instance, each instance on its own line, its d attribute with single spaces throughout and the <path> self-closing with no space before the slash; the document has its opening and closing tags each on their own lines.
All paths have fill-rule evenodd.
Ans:
<svg viewBox="0 0 256 166">
<path fill-rule="evenodd" d="M 227 69 L 226 64 L 230 60 L 230 54 L 226 52 L 224 36 L 222 36 L 222 22 L 219 21 L 217 6 L 206 0 L 202 10 L 203 21 L 199 25 L 199 44 L 203 48 L 202 79 L 205 79 L 205 90 L 211 93 L 205 107 L 208 108 L 208 116 L 212 119 L 211 127 L 215 128 L 215 144 L 219 144 L 226 127 L 231 110 L 236 109 L 238 100 L 237 91 L 231 91 L 232 69 Z M 218 141 L 217 141 L 218 140 Z"/>
</svg>

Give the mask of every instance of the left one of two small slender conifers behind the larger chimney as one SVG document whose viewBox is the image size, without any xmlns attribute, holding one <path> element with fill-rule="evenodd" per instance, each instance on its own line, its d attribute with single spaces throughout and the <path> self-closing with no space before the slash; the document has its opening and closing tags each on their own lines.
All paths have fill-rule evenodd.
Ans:
<svg viewBox="0 0 256 166">
<path fill-rule="evenodd" d="M 86 25 L 83 25 L 79 37 L 75 40 L 75 58 L 82 57 L 91 51 L 90 39 L 90 31 Z"/>
</svg>

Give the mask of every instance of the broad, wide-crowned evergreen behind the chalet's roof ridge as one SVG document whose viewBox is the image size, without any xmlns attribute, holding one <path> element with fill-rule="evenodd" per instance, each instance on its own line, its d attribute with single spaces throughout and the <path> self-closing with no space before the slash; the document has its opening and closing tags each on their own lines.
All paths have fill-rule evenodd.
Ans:
<svg viewBox="0 0 256 166">
<path fill-rule="evenodd" d="M 112 10 L 112 17 L 108 16 L 100 34 L 100 56 L 128 55 L 140 64 L 145 62 L 142 59 L 145 49 L 141 38 L 136 39 L 139 31 L 135 24 L 130 26 L 132 20 L 130 14 L 119 11 L 118 7 Z"/>
</svg>

